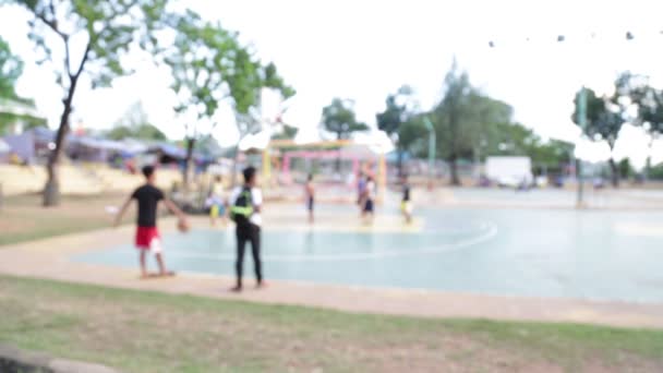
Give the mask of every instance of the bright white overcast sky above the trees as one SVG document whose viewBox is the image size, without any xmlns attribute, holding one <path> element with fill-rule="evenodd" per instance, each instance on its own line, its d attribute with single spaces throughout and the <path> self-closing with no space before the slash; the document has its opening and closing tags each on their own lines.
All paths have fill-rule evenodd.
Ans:
<svg viewBox="0 0 663 373">
<path fill-rule="evenodd" d="M 652 76 L 663 87 L 663 2 L 661 1 L 429 1 L 400 0 L 190 0 L 180 1 L 204 16 L 220 20 L 255 46 L 261 58 L 276 62 L 298 94 L 285 121 L 314 137 L 322 107 L 333 97 L 355 100 L 360 120 L 375 122 L 387 94 L 402 84 L 414 89 L 423 108 L 439 98 L 443 79 L 456 56 L 472 83 L 510 104 L 516 119 L 544 137 L 569 141 L 579 130 L 570 122 L 574 93 L 581 84 L 610 89 L 623 70 Z M 61 111 L 61 91 L 51 71 L 37 67 L 27 40 L 27 15 L 0 9 L 0 35 L 26 62 L 20 94 L 34 97 L 51 127 Z M 630 31 L 636 38 L 626 41 Z M 595 37 L 592 38 L 591 34 Z M 566 36 L 556 43 L 557 35 Z M 529 41 L 526 39 L 529 37 Z M 489 40 L 496 48 L 489 48 Z M 110 128 L 136 100 L 150 121 L 171 137 L 184 133 L 173 115 L 167 69 L 145 56 L 131 63 L 137 72 L 110 89 L 76 93 L 75 120 L 94 129 Z M 275 104 L 265 111 L 274 111 Z M 219 115 L 215 135 L 222 145 L 237 141 L 229 110 Z M 644 161 L 647 139 L 625 128 L 615 155 Z M 663 143 L 654 145 L 663 160 Z M 580 156 L 599 160 L 607 147 L 582 142 Z"/>
</svg>

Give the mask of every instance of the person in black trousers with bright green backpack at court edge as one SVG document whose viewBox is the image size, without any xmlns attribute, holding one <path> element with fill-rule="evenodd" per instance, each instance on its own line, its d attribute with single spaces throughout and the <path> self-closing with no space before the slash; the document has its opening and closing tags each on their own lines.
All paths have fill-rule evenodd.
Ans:
<svg viewBox="0 0 663 373">
<path fill-rule="evenodd" d="M 256 287 L 262 288 L 265 286 L 261 262 L 261 207 L 263 194 L 256 186 L 255 168 L 246 167 L 242 173 L 244 176 L 244 185 L 236 188 L 230 195 L 230 201 L 232 201 L 230 218 L 236 224 L 237 237 L 237 262 L 234 263 L 237 284 L 230 290 L 236 292 L 242 291 L 242 273 L 246 242 L 251 243 Z"/>
</svg>

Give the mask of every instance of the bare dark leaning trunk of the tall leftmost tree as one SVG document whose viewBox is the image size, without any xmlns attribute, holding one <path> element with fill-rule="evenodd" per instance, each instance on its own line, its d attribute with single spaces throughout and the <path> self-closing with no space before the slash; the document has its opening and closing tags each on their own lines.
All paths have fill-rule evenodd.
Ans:
<svg viewBox="0 0 663 373">
<path fill-rule="evenodd" d="M 50 156 L 48 158 L 48 164 L 46 165 L 48 179 L 46 181 L 46 185 L 44 186 L 43 204 L 45 207 L 57 206 L 60 204 L 59 166 L 60 159 L 62 158 L 62 153 L 64 152 L 65 147 L 67 134 L 69 133 L 69 117 L 71 116 L 72 111 L 71 104 L 74 98 L 77 81 L 77 76 L 71 77 L 67 98 L 64 98 L 64 100 L 62 101 L 62 104 L 64 105 L 64 110 L 62 111 L 62 116 L 60 117 L 60 127 L 58 128 L 58 134 L 56 135 L 56 148 L 51 151 Z"/>
</svg>

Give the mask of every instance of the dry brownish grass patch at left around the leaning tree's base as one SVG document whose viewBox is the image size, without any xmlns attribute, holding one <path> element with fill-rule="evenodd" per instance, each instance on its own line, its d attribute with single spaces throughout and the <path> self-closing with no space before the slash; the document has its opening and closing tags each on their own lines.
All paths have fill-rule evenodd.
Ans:
<svg viewBox="0 0 663 373">
<path fill-rule="evenodd" d="M 109 227 L 106 206 L 119 206 L 125 195 L 63 196 L 59 207 L 41 207 L 40 195 L 5 197 L 0 210 L 0 245 Z M 132 206 L 133 208 L 133 206 Z M 125 222 L 134 218 L 133 209 Z"/>
</svg>

